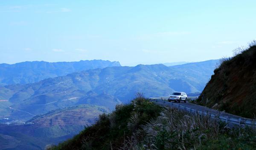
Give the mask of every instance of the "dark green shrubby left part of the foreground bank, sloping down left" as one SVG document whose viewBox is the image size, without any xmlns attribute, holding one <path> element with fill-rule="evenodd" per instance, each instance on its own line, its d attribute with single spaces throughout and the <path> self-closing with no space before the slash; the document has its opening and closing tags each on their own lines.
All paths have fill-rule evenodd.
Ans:
<svg viewBox="0 0 256 150">
<path fill-rule="evenodd" d="M 162 107 L 137 94 L 130 104 L 120 104 L 110 114 L 102 114 L 93 126 L 86 127 L 74 138 L 49 150 L 118 150 L 142 125 L 157 118 Z"/>
</svg>

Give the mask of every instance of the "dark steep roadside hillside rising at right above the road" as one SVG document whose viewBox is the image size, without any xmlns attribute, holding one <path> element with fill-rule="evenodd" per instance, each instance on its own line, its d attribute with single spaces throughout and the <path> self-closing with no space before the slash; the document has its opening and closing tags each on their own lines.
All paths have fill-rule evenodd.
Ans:
<svg viewBox="0 0 256 150">
<path fill-rule="evenodd" d="M 254 118 L 256 115 L 256 45 L 227 59 L 214 70 L 198 104 L 227 113 Z"/>
</svg>

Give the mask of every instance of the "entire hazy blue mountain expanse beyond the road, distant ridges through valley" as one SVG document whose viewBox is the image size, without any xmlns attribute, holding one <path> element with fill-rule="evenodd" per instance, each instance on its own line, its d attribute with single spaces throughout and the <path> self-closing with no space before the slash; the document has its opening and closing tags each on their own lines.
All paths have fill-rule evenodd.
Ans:
<svg viewBox="0 0 256 150">
<path fill-rule="evenodd" d="M 23 75 L 26 69 L 16 76 L 5 75 L 5 81 L 12 82 L 0 85 L 0 149 L 40 150 L 47 144 L 58 144 L 79 133 L 84 126 L 94 124 L 99 114 L 129 103 L 137 92 L 145 97 L 168 96 L 174 91 L 201 92 L 219 60 L 134 67 L 110 61 L 85 62 L 93 64 L 79 68 L 67 63 L 71 66 L 57 69 L 60 72 L 33 64 L 45 62 L 29 62 L 33 65 L 26 66 L 29 70 L 31 66 L 36 66 L 35 70 L 45 67 L 46 72 L 52 69 L 53 78 L 44 69 L 32 71 L 33 80 Z M 33 78 L 37 75 L 44 79 L 37 81 L 40 79 Z M 19 78 L 19 84 L 14 84 L 13 78 Z"/>
</svg>

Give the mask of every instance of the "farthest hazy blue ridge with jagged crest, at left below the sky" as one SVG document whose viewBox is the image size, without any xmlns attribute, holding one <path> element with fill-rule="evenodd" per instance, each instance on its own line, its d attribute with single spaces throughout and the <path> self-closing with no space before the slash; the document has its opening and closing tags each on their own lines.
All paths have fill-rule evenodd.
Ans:
<svg viewBox="0 0 256 150">
<path fill-rule="evenodd" d="M 0 85 L 34 83 L 46 78 L 55 78 L 73 72 L 110 66 L 121 65 L 116 61 L 102 60 L 56 63 L 45 61 L 26 61 L 15 64 L 2 63 L 0 64 Z"/>
</svg>

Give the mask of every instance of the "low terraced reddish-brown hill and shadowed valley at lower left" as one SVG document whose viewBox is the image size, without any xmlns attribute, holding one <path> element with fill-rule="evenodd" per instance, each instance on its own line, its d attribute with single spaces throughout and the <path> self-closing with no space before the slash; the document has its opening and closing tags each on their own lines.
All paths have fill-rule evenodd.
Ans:
<svg viewBox="0 0 256 150">
<path fill-rule="evenodd" d="M 38 115 L 26 124 L 0 124 L 0 150 L 41 150 L 58 144 L 96 122 L 105 107 L 78 105 Z"/>
</svg>

